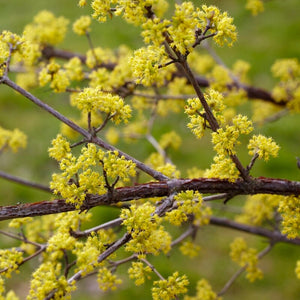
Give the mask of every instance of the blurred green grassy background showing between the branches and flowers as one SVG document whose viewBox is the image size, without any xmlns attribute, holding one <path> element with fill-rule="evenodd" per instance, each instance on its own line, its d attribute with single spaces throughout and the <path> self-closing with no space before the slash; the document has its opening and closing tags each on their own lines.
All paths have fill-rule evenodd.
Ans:
<svg viewBox="0 0 300 300">
<path fill-rule="evenodd" d="M 169 1 L 173 5 L 174 1 Z M 203 1 L 194 1 L 196 5 L 204 4 Z M 238 41 L 233 48 L 216 48 L 215 50 L 223 61 L 232 66 L 235 60 L 243 59 L 251 64 L 250 77 L 253 85 L 270 90 L 274 84 L 270 66 L 278 58 L 298 57 L 300 54 L 300 19 L 299 1 L 266 1 L 265 12 L 257 17 L 252 17 L 245 10 L 246 1 L 208 1 L 207 4 L 215 4 L 223 10 L 227 10 L 233 16 L 239 32 Z M 8 29 L 21 33 L 23 27 L 29 23 L 33 16 L 40 10 L 47 9 L 56 16 L 63 15 L 72 23 L 82 14 L 89 14 L 90 9 L 80 9 L 77 1 L 34 1 L 27 0 L 0 0 L 0 31 Z M 91 33 L 95 45 L 115 48 L 120 44 L 126 44 L 136 48 L 142 44 L 139 29 L 127 25 L 119 18 L 113 18 L 105 24 L 93 23 Z M 66 40 L 60 45 L 64 49 L 76 49 L 76 52 L 85 52 L 88 49 L 87 41 L 83 37 L 69 31 Z M 54 95 L 48 88 L 37 88 L 32 91 L 34 95 L 51 104 L 60 112 L 71 117 L 76 114 L 68 105 L 68 95 Z M 247 108 L 247 107 L 246 107 Z M 251 115 L 250 111 L 246 111 Z M 201 141 L 193 139 L 186 128 L 187 120 L 184 116 L 172 115 L 172 117 L 158 119 L 154 127 L 154 135 L 159 137 L 172 128 L 185 136 L 183 146 L 179 152 L 171 153 L 172 160 L 182 170 L 192 166 L 205 169 L 209 166 L 213 156 L 212 147 L 208 138 Z M 56 164 L 48 158 L 47 149 L 50 140 L 59 130 L 59 122 L 40 108 L 12 92 L 6 86 L 0 86 L 0 126 L 13 129 L 20 128 L 28 135 L 28 147 L 18 154 L 3 153 L 0 158 L 0 170 L 10 174 L 26 178 L 39 183 L 48 184 L 51 173 L 56 171 Z M 256 131 L 272 136 L 280 145 L 280 155 L 268 163 L 258 162 L 253 174 L 257 176 L 272 176 L 292 180 L 300 179 L 300 171 L 296 167 L 296 156 L 300 156 L 300 120 L 299 115 L 289 115 L 280 120 L 269 123 Z M 145 159 L 152 151 L 150 145 L 142 141 L 134 145 L 120 144 L 120 149 L 129 154 Z M 249 158 L 241 154 L 244 164 Z M 14 183 L 0 179 L 1 205 L 16 204 L 18 202 L 35 202 L 48 200 L 50 197 L 43 192 L 24 188 Z M 232 206 L 241 206 L 243 197 L 237 197 L 230 201 Z M 222 205 L 220 205 L 222 207 Z M 95 209 L 101 220 L 109 220 L 116 215 L 115 211 L 108 209 Z M 219 212 L 222 216 L 222 210 Z M 99 222 L 99 220 L 98 220 Z M 0 224 L 5 228 L 7 222 Z M 180 230 L 175 230 L 174 235 L 179 235 Z M 174 249 L 168 257 L 155 257 L 151 262 L 167 276 L 175 270 L 185 273 L 190 279 L 190 294 L 193 294 L 197 280 L 207 278 L 215 291 L 219 291 L 230 276 L 238 270 L 228 256 L 229 243 L 237 235 L 237 232 L 229 229 L 207 227 L 199 231 L 197 241 L 201 246 L 200 257 L 190 260 L 182 256 L 178 249 Z M 262 238 L 239 234 L 244 236 L 251 246 L 259 250 L 266 246 Z M 13 245 L 13 241 L 1 236 L 1 244 Z M 279 244 L 261 262 L 260 267 L 264 271 L 264 279 L 250 284 L 244 276 L 241 276 L 223 299 L 244 300 L 281 300 L 300 299 L 300 281 L 296 279 L 294 268 L 295 261 L 300 258 L 299 247 Z M 9 286 L 14 287 L 21 299 L 25 298 L 28 290 L 28 270 L 35 266 L 37 261 L 30 266 L 23 266 L 21 273 L 13 277 Z M 118 270 L 122 274 L 126 270 L 122 266 Z M 124 273 L 124 272 L 123 272 Z M 150 284 L 135 287 L 134 283 L 121 275 L 124 284 L 120 291 L 114 293 L 101 293 L 97 283 L 92 278 L 80 282 L 74 299 L 150 299 Z M 155 277 L 153 276 L 155 279 Z M 9 289 L 9 288 L 8 288 Z"/>
</svg>

